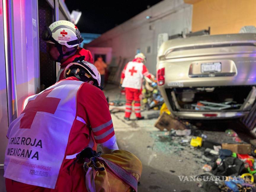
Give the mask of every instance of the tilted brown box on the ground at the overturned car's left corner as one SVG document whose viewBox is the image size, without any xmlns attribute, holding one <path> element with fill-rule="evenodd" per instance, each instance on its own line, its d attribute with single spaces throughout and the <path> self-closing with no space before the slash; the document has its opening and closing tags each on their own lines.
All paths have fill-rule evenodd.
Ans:
<svg viewBox="0 0 256 192">
<path fill-rule="evenodd" d="M 177 121 L 176 119 L 173 119 L 172 116 L 168 115 L 167 113 L 162 113 L 161 116 L 156 120 L 155 127 L 163 131 L 164 129 L 167 129 L 168 131 L 171 129 L 180 129 L 184 130 L 186 129 L 186 126 L 181 123 L 180 121 Z"/>
</svg>

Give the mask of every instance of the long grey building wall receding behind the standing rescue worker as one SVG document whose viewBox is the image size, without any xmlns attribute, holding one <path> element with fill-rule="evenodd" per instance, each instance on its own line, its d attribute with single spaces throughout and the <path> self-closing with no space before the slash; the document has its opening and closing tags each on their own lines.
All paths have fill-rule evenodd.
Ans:
<svg viewBox="0 0 256 192">
<path fill-rule="evenodd" d="M 146 19 L 146 16 L 151 18 Z M 173 35 L 185 28 L 191 31 L 191 17 L 192 5 L 185 4 L 183 0 L 164 0 L 103 33 L 86 47 L 112 47 L 112 57 L 128 61 L 140 49 L 147 57 L 148 70 L 155 74 L 158 34 Z M 150 53 L 146 52 L 147 47 L 150 47 Z"/>
</svg>

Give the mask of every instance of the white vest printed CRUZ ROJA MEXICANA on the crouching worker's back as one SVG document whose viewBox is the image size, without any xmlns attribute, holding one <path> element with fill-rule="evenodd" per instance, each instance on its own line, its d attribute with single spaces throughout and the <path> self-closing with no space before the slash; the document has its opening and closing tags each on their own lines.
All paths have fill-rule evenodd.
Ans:
<svg viewBox="0 0 256 192">
<path fill-rule="evenodd" d="M 76 93 L 82 83 L 60 81 L 29 97 L 25 102 L 27 107 L 24 113 L 9 126 L 4 177 L 30 185 L 55 188 L 66 158 L 71 127 L 76 119 Z M 37 100 L 37 97 L 41 99 Z M 34 111 L 29 110 L 26 114 L 30 107 Z M 23 116 L 26 118 L 22 119 Z"/>
</svg>

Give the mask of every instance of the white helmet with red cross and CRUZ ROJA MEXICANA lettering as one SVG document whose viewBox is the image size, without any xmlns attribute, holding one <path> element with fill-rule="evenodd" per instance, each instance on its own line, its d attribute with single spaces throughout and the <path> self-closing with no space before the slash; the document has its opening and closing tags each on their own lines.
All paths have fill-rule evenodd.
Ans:
<svg viewBox="0 0 256 192">
<path fill-rule="evenodd" d="M 52 23 L 49 28 L 43 32 L 43 39 L 48 43 L 59 43 L 66 47 L 76 47 L 83 38 L 80 31 L 73 23 L 65 20 L 59 20 Z"/>
</svg>

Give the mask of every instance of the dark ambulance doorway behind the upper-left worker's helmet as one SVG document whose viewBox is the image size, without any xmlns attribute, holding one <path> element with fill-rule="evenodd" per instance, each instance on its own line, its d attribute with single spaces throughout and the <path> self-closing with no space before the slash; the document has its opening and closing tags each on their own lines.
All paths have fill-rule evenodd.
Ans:
<svg viewBox="0 0 256 192">
<path fill-rule="evenodd" d="M 41 91 L 56 82 L 56 65 L 47 53 L 47 43 L 42 39 L 45 25 L 53 22 L 53 9 L 47 1 L 38 1 L 39 9 L 39 55 L 40 55 L 40 84 Z"/>
</svg>

